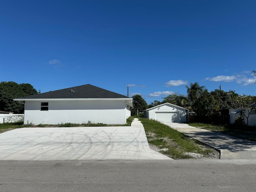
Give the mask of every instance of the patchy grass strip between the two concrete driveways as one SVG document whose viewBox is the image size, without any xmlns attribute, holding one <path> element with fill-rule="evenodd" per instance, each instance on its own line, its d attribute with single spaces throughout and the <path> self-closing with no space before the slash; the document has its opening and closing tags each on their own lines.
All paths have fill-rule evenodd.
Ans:
<svg viewBox="0 0 256 192">
<path fill-rule="evenodd" d="M 145 118 L 139 118 L 139 120 L 145 128 L 148 143 L 159 148 L 168 148 L 167 151 L 161 151 L 161 153 L 173 159 L 192 158 L 185 154 L 186 152 L 199 153 L 203 156 L 208 156 L 213 152 L 212 149 L 205 148 L 200 142 L 158 121 Z"/>
</svg>

